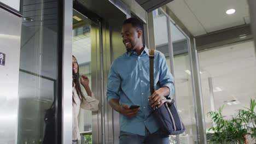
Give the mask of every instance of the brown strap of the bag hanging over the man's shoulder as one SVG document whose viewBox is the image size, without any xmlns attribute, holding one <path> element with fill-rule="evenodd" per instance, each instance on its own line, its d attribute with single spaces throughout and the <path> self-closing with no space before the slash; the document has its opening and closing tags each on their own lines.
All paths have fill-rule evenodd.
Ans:
<svg viewBox="0 0 256 144">
<path fill-rule="evenodd" d="M 149 81 L 150 81 L 150 93 L 153 94 L 155 92 L 154 86 L 154 58 L 155 58 L 155 50 L 149 49 Z"/>
</svg>

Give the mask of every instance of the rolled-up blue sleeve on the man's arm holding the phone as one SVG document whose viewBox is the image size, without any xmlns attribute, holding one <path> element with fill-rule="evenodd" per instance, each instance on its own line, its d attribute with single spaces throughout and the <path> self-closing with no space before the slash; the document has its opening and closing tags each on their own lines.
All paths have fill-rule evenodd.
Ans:
<svg viewBox="0 0 256 144">
<path fill-rule="evenodd" d="M 121 78 L 117 71 L 115 71 L 115 62 L 112 63 L 109 70 L 108 81 L 107 81 L 107 101 L 111 99 L 119 99 L 119 89 L 121 85 Z"/>
</svg>

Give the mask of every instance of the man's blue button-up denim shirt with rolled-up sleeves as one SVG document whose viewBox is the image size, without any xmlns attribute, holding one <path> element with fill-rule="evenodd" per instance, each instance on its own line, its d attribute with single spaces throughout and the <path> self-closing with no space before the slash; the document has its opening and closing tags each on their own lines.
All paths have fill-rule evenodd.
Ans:
<svg viewBox="0 0 256 144">
<path fill-rule="evenodd" d="M 174 93 L 173 76 L 168 71 L 164 54 L 155 52 L 154 82 L 155 89 L 168 87 L 170 95 Z M 159 125 L 149 105 L 149 53 L 144 48 L 140 56 L 135 51 L 125 52 L 112 63 L 108 82 L 107 100 L 119 99 L 120 105 L 140 105 L 141 109 L 135 117 L 127 118 L 120 114 L 120 130 L 133 134 L 145 135 L 145 127 L 150 133 L 159 129 Z"/>
</svg>

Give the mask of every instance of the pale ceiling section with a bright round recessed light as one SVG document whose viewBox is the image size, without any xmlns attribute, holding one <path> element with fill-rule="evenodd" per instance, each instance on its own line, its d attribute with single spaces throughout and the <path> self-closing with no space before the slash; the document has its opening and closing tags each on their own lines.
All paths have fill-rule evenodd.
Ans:
<svg viewBox="0 0 256 144">
<path fill-rule="evenodd" d="M 176 0 L 167 7 L 194 36 L 250 22 L 246 0 Z M 228 9 L 236 12 L 227 15 Z"/>
</svg>

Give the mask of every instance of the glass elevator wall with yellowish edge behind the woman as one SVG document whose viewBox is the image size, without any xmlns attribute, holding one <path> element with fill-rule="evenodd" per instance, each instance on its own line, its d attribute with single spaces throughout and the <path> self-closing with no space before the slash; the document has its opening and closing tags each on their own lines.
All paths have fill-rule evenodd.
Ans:
<svg viewBox="0 0 256 144">
<path fill-rule="evenodd" d="M 86 76 L 89 79 L 89 87 L 92 97 L 101 99 L 101 66 L 100 66 L 100 24 L 73 9 L 73 44 L 72 54 L 79 65 L 79 76 Z M 88 95 L 80 84 L 83 95 Z M 100 107 L 100 106 L 99 106 Z M 99 110 L 100 111 L 100 110 Z M 99 121 L 100 120 L 100 121 Z M 98 137 L 98 124 L 101 118 L 97 112 L 80 109 L 78 115 L 78 127 L 80 140 L 78 143 L 92 143 L 92 136 Z M 96 140 L 97 138 L 94 139 Z M 97 143 L 95 141 L 94 143 Z"/>
</svg>

